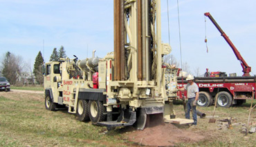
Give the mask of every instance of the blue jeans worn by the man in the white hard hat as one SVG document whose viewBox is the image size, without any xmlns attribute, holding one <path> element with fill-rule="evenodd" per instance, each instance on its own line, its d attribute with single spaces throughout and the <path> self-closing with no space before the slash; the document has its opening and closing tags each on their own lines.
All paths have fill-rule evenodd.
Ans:
<svg viewBox="0 0 256 147">
<path fill-rule="evenodd" d="M 190 99 L 188 99 L 188 101 L 187 101 L 187 104 L 186 104 L 186 111 L 185 111 L 185 118 L 186 118 L 186 119 L 190 119 L 190 110 L 192 109 L 192 117 L 193 117 L 193 120 L 194 120 L 193 125 L 196 126 L 197 118 L 196 118 L 196 106 L 193 106 L 193 101 L 194 101 L 194 99 L 195 99 L 195 98 L 190 98 Z"/>
</svg>

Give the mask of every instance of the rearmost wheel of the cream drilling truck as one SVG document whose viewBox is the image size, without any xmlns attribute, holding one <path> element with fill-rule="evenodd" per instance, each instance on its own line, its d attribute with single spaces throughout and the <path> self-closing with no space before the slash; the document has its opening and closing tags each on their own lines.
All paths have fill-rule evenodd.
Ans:
<svg viewBox="0 0 256 147">
<path fill-rule="evenodd" d="M 104 121 L 106 116 L 103 114 L 105 108 L 100 101 L 89 101 L 89 117 L 93 124 L 97 124 L 100 121 Z"/>
</svg>

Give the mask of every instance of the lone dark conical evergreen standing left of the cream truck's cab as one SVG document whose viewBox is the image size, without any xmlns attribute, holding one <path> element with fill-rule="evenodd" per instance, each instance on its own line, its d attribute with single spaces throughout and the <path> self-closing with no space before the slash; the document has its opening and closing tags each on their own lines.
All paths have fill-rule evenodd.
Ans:
<svg viewBox="0 0 256 147">
<path fill-rule="evenodd" d="M 35 64 L 34 64 L 34 70 L 33 70 L 35 79 L 39 84 L 44 83 L 43 68 L 44 68 L 44 58 L 42 57 L 41 51 L 39 51 L 37 57 L 35 58 Z"/>
</svg>

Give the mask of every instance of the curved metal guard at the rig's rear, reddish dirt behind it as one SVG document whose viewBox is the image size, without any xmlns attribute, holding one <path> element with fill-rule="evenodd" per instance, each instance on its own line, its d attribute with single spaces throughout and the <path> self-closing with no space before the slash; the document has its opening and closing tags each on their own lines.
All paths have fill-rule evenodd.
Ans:
<svg viewBox="0 0 256 147">
<path fill-rule="evenodd" d="M 163 107 L 140 108 L 137 116 L 136 127 L 138 130 L 156 126 L 163 123 Z"/>
</svg>

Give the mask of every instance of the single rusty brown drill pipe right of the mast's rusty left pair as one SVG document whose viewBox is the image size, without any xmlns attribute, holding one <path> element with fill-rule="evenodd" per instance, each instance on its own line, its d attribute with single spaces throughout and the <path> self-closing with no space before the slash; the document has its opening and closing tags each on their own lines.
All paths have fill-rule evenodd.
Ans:
<svg viewBox="0 0 256 147">
<path fill-rule="evenodd" d="M 142 34 L 141 34 L 141 0 L 137 1 L 137 11 L 138 11 L 138 81 L 143 79 L 143 59 L 142 59 Z"/>
</svg>

